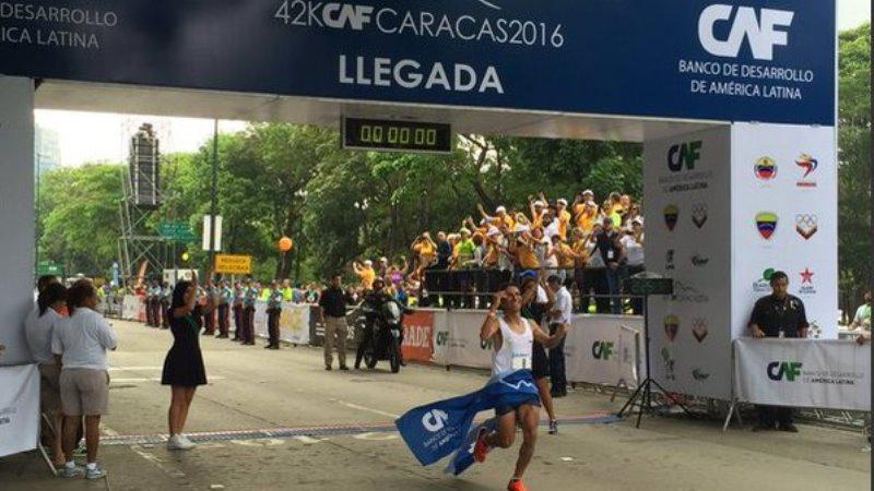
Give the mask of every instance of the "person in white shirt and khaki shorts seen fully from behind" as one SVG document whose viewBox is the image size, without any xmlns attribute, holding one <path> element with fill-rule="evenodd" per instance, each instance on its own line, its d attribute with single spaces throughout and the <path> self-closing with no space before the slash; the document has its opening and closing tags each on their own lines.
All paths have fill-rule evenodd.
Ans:
<svg viewBox="0 0 874 491">
<path fill-rule="evenodd" d="M 51 352 L 61 366 L 60 388 L 63 410 L 63 452 L 67 463 L 63 477 L 99 479 L 106 472 L 97 466 L 101 441 L 101 416 L 109 412 L 109 366 L 106 350 L 115 350 L 113 328 L 95 312 L 99 299 L 88 280 L 79 280 L 67 291 L 70 319 L 57 326 L 51 336 Z M 75 435 L 81 417 L 85 417 L 87 466 L 76 467 L 73 460 Z"/>
</svg>

